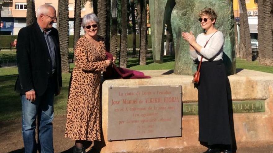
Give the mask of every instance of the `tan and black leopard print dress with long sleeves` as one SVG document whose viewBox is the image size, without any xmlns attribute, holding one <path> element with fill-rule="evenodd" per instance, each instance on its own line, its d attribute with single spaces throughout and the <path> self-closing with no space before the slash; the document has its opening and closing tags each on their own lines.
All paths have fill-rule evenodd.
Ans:
<svg viewBox="0 0 273 153">
<path fill-rule="evenodd" d="M 67 102 L 65 137 L 72 140 L 101 140 L 101 71 L 106 69 L 105 43 L 99 36 L 96 49 L 86 36 L 75 48 L 76 62 Z"/>
</svg>

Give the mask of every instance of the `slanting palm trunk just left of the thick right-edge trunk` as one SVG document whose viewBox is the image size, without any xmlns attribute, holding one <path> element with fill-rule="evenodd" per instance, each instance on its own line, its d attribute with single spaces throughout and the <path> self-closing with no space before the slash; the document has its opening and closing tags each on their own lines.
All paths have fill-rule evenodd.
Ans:
<svg viewBox="0 0 273 153">
<path fill-rule="evenodd" d="M 240 46 L 239 52 L 240 57 L 251 60 L 252 50 L 251 50 L 251 39 L 249 32 L 248 16 L 245 0 L 240 0 L 242 13 L 240 12 Z"/>
</svg>

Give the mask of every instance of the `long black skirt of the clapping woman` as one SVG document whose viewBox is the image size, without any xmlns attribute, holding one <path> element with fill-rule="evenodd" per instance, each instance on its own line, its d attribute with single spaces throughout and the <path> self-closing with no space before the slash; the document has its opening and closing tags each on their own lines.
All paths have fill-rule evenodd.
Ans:
<svg viewBox="0 0 273 153">
<path fill-rule="evenodd" d="M 198 84 L 198 113 L 199 141 L 202 145 L 233 144 L 235 136 L 231 91 L 222 60 L 202 62 Z"/>
</svg>

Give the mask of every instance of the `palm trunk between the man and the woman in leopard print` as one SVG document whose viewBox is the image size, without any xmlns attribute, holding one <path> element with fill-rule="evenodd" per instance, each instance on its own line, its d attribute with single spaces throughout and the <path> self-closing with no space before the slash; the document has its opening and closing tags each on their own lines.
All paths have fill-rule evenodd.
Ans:
<svg viewBox="0 0 273 153">
<path fill-rule="evenodd" d="M 69 72 L 69 61 L 68 61 L 68 0 L 59 0 L 58 2 L 58 23 L 57 29 L 59 30 L 60 39 L 60 54 L 61 54 L 61 64 L 62 72 Z"/>
</svg>

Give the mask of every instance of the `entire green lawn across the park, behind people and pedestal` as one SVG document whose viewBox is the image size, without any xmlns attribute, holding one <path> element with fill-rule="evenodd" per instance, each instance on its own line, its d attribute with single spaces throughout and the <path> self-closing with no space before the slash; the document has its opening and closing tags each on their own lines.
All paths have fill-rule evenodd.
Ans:
<svg viewBox="0 0 273 153">
<path fill-rule="evenodd" d="M 2 51 L 1 51 L 2 52 Z M 118 63 L 118 61 L 117 61 Z M 239 69 L 258 70 L 273 73 L 273 66 L 262 66 L 258 62 L 248 62 L 237 59 L 236 67 Z M 74 64 L 70 64 L 71 70 Z M 127 67 L 133 70 L 170 70 L 174 68 L 174 55 L 164 57 L 163 64 L 153 63 L 152 57 L 147 57 L 147 65 L 139 66 L 138 58 L 128 59 Z M 21 116 L 20 96 L 14 91 L 14 84 L 17 78 L 17 68 L 0 68 L 0 122 L 7 120 L 18 120 Z M 63 73 L 63 87 L 61 94 L 55 97 L 55 114 L 65 114 L 68 95 L 68 84 L 70 73 Z"/>
</svg>

